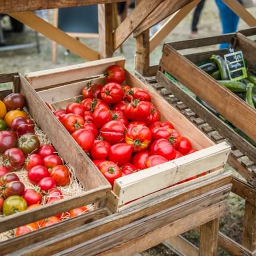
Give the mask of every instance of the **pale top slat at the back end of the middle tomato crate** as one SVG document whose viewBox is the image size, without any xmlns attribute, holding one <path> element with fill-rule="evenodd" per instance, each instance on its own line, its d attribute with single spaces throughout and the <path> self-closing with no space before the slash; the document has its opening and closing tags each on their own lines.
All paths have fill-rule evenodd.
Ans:
<svg viewBox="0 0 256 256">
<path fill-rule="evenodd" d="M 124 63 L 125 58 L 121 56 L 70 65 L 62 68 L 30 72 L 25 74 L 25 77 L 28 79 L 29 83 L 34 87 L 34 89 L 43 89 L 51 85 L 78 81 L 91 76 L 98 76 L 106 73 L 108 66 L 116 64 L 124 67 Z"/>
</svg>

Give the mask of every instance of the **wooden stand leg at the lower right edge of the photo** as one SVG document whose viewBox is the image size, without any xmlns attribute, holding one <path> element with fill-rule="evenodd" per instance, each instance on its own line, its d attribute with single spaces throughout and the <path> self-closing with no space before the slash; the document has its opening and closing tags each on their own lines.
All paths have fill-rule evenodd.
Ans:
<svg viewBox="0 0 256 256">
<path fill-rule="evenodd" d="M 256 206 L 245 203 L 242 245 L 250 251 L 256 250 Z"/>
</svg>

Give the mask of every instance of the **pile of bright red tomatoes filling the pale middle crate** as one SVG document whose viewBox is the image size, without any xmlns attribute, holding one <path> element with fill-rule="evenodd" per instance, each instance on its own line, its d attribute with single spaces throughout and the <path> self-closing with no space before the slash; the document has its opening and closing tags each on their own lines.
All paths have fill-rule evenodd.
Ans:
<svg viewBox="0 0 256 256">
<path fill-rule="evenodd" d="M 124 69 L 110 66 L 106 85 L 88 83 L 82 102 L 53 112 L 112 186 L 123 175 L 196 151 L 170 122 L 160 121 L 147 91 L 124 81 Z"/>
</svg>

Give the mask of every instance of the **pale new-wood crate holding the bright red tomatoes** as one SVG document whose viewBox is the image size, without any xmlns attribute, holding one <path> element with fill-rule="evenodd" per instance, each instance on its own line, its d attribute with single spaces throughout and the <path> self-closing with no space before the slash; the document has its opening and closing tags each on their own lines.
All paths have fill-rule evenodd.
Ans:
<svg viewBox="0 0 256 256">
<path fill-rule="evenodd" d="M 106 68 L 114 63 L 124 67 L 125 59 L 122 57 L 109 58 L 81 65 L 28 73 L 25 77 L 43 101 L 49 102 L 54 109 L 58 109 L 66 107 L 67 102 L 81 97 L 81 90 L 87 82 L 105 83 L 103 74 L 106 72 Z M 181 134 L 190 139 L 193 147 L 200 151 L 117 179 L 109 199 L 109 206 L 112 210 L 122 211 L 127 207 L 146 202 L 150 198 L 186 187 L 188 184 L 220 175 L 230 151 L 226 142 L 214 145 L 179 111 L 170 107 L 169 103 L 164 101 L 154 89 L 139 81 L 127 70 L 126 83 L 149 91 L 152 102 L 161 112 L 162 120 L 173 123 Z M 53 116 L 50 114 L 50 110 L 47 111 L 49 115 Z M 59 126 L 62 127 L 60 123 Z M 88 157 L 87 159 L 90 162 Z M 211 173 L 204 177 L 170 187 L 181 180 L 208 171 Z"/>
</svg>

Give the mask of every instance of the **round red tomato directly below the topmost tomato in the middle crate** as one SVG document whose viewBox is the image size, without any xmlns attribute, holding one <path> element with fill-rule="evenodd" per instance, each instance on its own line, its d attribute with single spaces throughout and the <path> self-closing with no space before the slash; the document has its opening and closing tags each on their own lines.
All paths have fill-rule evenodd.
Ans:
<svg viewBox="0 0 256 256">
<path fill-rule="evenodd" d="M 122 86 L 117 83 L 108 83 L 101 90 L 101 99 L 108 103 L 114 104 L 121 101 L 124 97 Z"/>
</svg>

